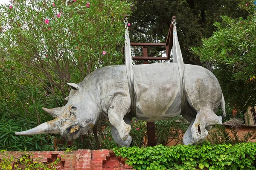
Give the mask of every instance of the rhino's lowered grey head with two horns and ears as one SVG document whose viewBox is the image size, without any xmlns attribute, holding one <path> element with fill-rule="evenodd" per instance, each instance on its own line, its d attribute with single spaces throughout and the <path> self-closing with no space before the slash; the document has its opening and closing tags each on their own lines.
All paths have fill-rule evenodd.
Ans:
<svg viewBox="0 0 256 170">
<path fill-rule="evenodd" d="M 85 89 L 75 83 L 67 83 L 72 88 L 70 95 L 65 98 L 67 104 L 59 108 L 42 108 L 55 117 L 54 120 L 45 122 L 32 129 L 16 132 L 16 135 L 34 135 L 41 133 L 61 134 L 64 139 L 70 141 L 79 138 L 91 129 L 99 116 L 95 95 L 93 91 Z"/>
</svg>

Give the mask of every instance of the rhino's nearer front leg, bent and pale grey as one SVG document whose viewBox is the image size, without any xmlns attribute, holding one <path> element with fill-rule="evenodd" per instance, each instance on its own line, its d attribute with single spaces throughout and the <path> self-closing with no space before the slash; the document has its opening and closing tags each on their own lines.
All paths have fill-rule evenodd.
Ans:
<svg viewBox="0 0 256 170">
<path fill-rule="evenodd" d="M 108 109 L 108 119 L 111 125 L 116 127 L 119 136 L 126 141 L 131 131 L 131 125 L 127 125 L 124 116 L 128 113 L 129 100 L 127 96 L 116 96 L 113 98 L 111 106 Z"/>
</svg>

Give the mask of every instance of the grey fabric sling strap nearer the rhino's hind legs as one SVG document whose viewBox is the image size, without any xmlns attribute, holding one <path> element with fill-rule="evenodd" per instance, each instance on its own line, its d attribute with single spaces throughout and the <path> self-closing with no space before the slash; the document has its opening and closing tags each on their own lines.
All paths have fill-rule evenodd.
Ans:
<svg viewBox="0 0 256 170">
<path fill-rule="evenodd" d="M 172 45 L 172 58 L 173 62 L 177 63 L 180 74 L 180 100 L 181 100 L 181 113 L 186 111 L 186 88 L 184 79 L 184 62 L 180 51 L 180 44 L 177 37 L 176 21 L 173 23 L 173 45 Z"/>
</svg>

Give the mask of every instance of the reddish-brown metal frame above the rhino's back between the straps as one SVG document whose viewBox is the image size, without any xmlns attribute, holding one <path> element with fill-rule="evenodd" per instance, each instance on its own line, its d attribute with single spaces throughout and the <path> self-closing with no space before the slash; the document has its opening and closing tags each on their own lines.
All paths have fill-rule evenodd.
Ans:
<svg viewBox="0 0 256 170">
<path fill-rule="evenodd" d="M 175 16 L 172 16 L 172 22 L 175 19 Z M 167 35 L 166 43 L 137 43 L 131 42 L 131 46 L 140 46 L 143 47 L 143 57 L 132 57 L 132 59 L 142 59 L 144 64 L 148 64 L 148 60 L 170 60 L 171 49 L 173 43 L 173 25 L 170 25 L 169 32 Z M 147 47 L 165 47 L 166 48 L 166 57 L 148 57 Z"/>
</svg>

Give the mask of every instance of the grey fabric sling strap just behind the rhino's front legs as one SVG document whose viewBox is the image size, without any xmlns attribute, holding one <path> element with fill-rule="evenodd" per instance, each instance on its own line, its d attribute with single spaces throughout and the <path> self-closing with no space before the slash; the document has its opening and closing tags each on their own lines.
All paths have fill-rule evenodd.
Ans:
<svg viewBox="0 0 256 170">
<path fill-rule="evenodd" d="M 132 69 L 132 60 L 131 60 L 131 44 L 128 31 L 128 22 L 125 22 L 125 66 L 126 74 L 128 79 L 128 88 L 131 97 L 131 116 L 136 117 L 136 98 L 134 91 L 134 76 Z"/>
</svg>

